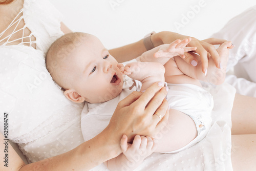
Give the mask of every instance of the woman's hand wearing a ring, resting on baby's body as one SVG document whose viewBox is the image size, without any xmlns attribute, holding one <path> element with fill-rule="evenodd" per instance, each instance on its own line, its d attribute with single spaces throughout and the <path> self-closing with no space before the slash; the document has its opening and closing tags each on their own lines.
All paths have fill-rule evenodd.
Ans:
<svg viewBox="0 0 256 171">
<path fill-rule="evenodd" d="M 165 99 L 167 92 L 163 83 L 154 83 L 144 93 L 133 92 L 121 100 L 108 125 L 112 133 L 119 135 L 120 141 L 123 134 L 127 135 L 129 141 L 135 135 L 153 137 L 159 132 L 168 120 L 168 102 Z M 160 121 L 158 112 L 163 116 Z"/>
</svg>

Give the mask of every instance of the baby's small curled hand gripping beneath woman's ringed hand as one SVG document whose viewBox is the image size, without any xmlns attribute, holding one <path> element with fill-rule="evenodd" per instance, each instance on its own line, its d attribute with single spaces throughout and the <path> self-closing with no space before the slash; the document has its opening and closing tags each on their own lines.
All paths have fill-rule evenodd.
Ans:
<svg viewBox="0 0 256 171">
<path fill-rule="evenodd" d="M 134 137 L 133 143 L 127 143 L 127 136 L 123 135 L 121 142 L 122 153 L 130 162 L 142 162 L 147 156 L 151 155 L 156 149 L 156 143 L 148 136 Z"/>
</svg>

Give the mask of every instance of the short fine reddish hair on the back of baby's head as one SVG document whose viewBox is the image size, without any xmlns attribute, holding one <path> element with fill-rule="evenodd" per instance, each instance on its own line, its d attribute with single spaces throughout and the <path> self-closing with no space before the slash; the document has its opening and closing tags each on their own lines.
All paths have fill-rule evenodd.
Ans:
<svg viewBox="0 0 256 171">
<path fill-rule="evenodd" d="M 64 90 L 70 88 L 70 81 L 67 78 L 69 75 L 63 74 L 67 71 L 65 62 L 72 57 L 72 52 L 86 40 L 88 35 L 82 32 L 64 34 L 53 42 L 46 54 L 46 68 L 53 80 Z"/>
</svg>

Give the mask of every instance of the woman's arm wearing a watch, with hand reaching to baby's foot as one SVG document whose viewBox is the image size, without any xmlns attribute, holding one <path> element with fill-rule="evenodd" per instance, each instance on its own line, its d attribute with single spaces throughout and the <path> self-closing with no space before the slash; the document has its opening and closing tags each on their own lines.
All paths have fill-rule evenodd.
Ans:
<svg viewBox="0 0 256 171">
<path fill-rule="evenodd" d="M 181 34 L 170 32 L 170 31 L 162 31 L 159 33 L 152 34 L 151 40 L 154 47 L 157 47 L 162 44 L 170 44 L 171 42 L 177 39 L 182 40 L 188 37 L 190 36 L 185 36 L 185 35 L 181 35 Z M 205 72 L 205 70 L 208 68 L 209 55 L 212 57 L 212 59 L 214 59 L 216 67 L 220 68 L 219 66 L 220 56 L 213 45 L 219 45 L 225 41 L 226 40 L 224 39 L 218 39 L 218 38 L 210 38 L 210 39 L 207 39 L 207 41 L 200 41 L 197 38 L 192 37 L 187 47 L 197 47 L 196 52 L 199 54 L 200 60 L 202 61 L 202 71 Z M 146 48 L 144 47 L 143 39 L 137 42 L 134 42 L 133 44 L 130 44 L 130 45 L 109 50 L 111 55 L 114 56 L 118 62 L 124 62 L 124 61 L 134 59 L 140 56 L 145 51 L 146 51 Z M 195 62 L 197 62 L 197 59 L 190 53 L 186 52 L 184 54 L 185 54 L 185 58 L 183 59 L 190 65 L 192 65 L 191 62 L 195 60 L 193 63 L 193 65 L 195 65 Z"/>
</svg>

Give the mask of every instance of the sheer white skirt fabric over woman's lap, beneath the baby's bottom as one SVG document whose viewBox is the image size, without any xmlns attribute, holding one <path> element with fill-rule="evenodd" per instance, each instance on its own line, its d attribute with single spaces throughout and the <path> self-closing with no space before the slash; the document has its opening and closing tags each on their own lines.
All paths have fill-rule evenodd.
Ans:
<svg viewBox="0 0 256 171">
<path fill-rule="evenodd" d="M 136 170 L 232 170 L 231 164 L 231 109 L 236 90 L 224 83 L 210 92 L 215 105 L 212 127 L 207 136 L 177 154 L 153 153 Z M 104 164 L 91 169 L 108 170 Z"/>
</svg>

